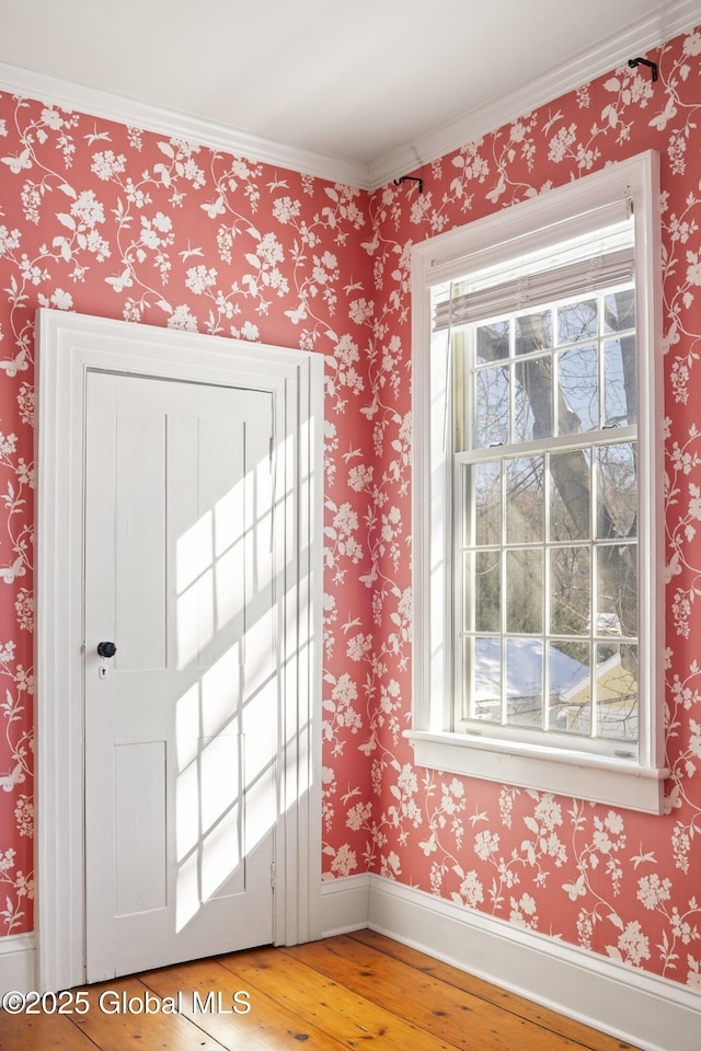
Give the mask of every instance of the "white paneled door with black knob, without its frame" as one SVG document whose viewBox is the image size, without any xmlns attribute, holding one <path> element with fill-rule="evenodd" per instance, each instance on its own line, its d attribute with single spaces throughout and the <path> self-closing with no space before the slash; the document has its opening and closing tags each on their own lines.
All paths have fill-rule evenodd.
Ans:
<svg viewBox="0 0 701 1051">
<path fill-rule="evenodd" d="M 92 982 L 273 940 L 273 396 L 91 371 L 85 435 Z"/>
</svg>

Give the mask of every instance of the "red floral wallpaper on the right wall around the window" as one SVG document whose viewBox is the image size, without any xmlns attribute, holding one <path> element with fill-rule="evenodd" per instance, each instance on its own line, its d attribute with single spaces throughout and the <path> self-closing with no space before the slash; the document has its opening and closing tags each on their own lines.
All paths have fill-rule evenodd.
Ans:
<svg viewBox="0 0 701 1051">
<path fill-rule="evenodd" d="M 350 672 L 344 689 L 354 698 L 364 690 L 372 697 L 364 730 L 354 732 L 370 758 L 375 806 L 348 796 L 348 835 L 327 851 L 334 875 L 369 865 L 466 908 L 701 989 L 701 657 L 693 645 L 701 632 L 701 425 L 694 412 L 701 404 L 701 33 L 653 58 L 659 60 L 656 84 L 644 68 L 625 66 L 426 166 L 423 194 L 412 184 L 374 195 L 364 245 L 372 259 L 376 312 L 361 412 L 374 421 L 376 452 L 384 461 L 365 465 L 374 471 L 365 546 L 380 554 L 372 594 L 380 630 L 367 655 L 347 647 L 352 665 L 360 659 L 366 668 Z M 669 626 L 660 657 L 670 777 L 660 818 L 415 767 L 401 738 L 409 718 L 407 651 L 397 648 L 411 631 L 400 608 L 409 557 L 402 553 L 398 561 L 397 546 L 381 544 L 392 533 L 405 535 L 411 513 L 395 472 L 409 427 L 403 377 L 412 244 L 651 148 L 660 152 L 663 169 L 668 414 Z M 378 368 L 386 361 L 386 370 Z M 337 810 L 342 786 L 331 770 Z M 361 852 L 358 830 L 366 838 Z"/>
</svg>

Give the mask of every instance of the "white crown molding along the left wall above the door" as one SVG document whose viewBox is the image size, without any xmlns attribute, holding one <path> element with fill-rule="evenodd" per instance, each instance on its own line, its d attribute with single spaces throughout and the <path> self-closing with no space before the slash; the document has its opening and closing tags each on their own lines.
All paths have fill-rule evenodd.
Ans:
<svg viewBox="0 0 701 1051">
<path fill-rule="evenodd" d="M 100 88 L 77 84 L 26 66 L 0 60 L 0 91 L 25 99 L 37 99 L 62 109 L 79 111 L 129 127 L 143 128 L 157 135 L 184 139 L 223 153 L 232 153 L 234 157 L 245 157 L 251 161 L 303 172 L 332 183 L 346 183 L 360 189 L 372 188 L 367 164 L 300 150 L 189 113 L 154 106 L 126 95 L 112 94 Z"/>
</svg>

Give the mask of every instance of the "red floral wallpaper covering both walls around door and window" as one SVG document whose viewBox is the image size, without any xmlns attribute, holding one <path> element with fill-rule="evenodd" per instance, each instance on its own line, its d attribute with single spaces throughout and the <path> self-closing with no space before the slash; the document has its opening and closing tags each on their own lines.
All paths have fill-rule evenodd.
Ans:
<svg viewBox="0 0 701 1051">
<path fill-rule="evenodd" d="M 324 875 L 366 870 L 701 989 L 701 32 L 374 194 L 0 97 L 0 931 L 32 929 L 37 305 L 301 346 L 326 365 Z M 667 751 L 660 818 L 441 776 L 411 700 L 417 241 L 662 155 Z"/>
</svg>

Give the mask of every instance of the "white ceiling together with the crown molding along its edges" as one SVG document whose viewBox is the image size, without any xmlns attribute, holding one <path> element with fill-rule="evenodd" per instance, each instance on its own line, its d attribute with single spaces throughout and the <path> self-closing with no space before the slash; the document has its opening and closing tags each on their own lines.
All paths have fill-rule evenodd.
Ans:
<svg viewBox="0 0 701 1051">
<path fill-rule="evenodd" d="M 374 188 L 689 28 L 698 0 L 0 0 L 0 90 Z"/>
</svg>

